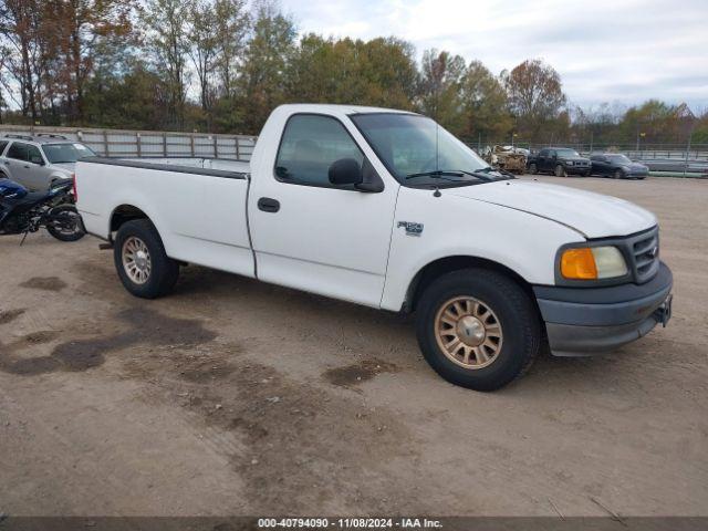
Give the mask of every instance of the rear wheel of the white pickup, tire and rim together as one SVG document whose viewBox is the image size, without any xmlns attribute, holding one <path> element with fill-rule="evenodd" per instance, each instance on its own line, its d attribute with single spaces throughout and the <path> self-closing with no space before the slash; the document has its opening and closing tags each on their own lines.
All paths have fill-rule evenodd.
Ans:
<svg viewBox="0 0 708 531">
<path fill-rule="evenodd" d="M 177 282 L 179 264 L 165 253 L 157 229 L 147 219 L 121 226 L 113 257 L 123 285 L 135 296 L 156 299 Z"/>
</svg>

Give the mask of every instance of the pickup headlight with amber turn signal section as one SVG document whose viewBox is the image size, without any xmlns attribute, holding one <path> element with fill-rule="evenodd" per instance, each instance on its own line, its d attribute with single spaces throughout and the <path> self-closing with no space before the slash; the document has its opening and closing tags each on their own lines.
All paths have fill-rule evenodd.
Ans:
<svg viewBox="0 0 708 531">
<path fill-rule="evenodd" d="M 614 279 L 627 272 L 624 257 L 616 247 L 573 248 L 561 256 L 561 274 L 565 279 Z"/>
</svg>

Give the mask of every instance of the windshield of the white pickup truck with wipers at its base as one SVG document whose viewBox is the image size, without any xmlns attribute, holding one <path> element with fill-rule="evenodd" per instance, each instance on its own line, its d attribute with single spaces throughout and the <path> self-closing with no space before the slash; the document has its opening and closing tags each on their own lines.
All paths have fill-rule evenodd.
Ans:
<svg viewBox="0 0 708 531">
<path fill-rule="evenodd" d="M 397 113 L 356 114 L 352 121 L 388 171 L 406 186 L 460 186 L 507 178 L 433 119 Z"/>
</svg>

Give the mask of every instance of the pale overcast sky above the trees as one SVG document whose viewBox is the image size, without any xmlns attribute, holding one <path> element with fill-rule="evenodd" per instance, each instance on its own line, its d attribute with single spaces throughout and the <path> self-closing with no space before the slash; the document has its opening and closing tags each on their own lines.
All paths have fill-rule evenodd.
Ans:
<svg viewBox="0 0 708 531">
<path fill-rule="evenodd" d="M 481 60 L 558 70 L 574 104 L 658 97 L 708 108 L 708 0 L 281 0 L 301 33 L 396 35 Z"/>
</svg>

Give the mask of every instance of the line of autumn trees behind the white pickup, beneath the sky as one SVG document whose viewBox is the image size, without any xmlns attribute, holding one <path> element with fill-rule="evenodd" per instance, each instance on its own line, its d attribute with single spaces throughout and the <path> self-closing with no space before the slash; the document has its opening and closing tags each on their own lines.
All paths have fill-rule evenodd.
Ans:
<svg viewBox="0 0 708 531">
<path fill-rule="evenodd" d="M 708 143 L 708 113 L 657 100 L 572 105 L 560 74 L 299 35 L 273 0 L 0 0 L 6 123 L 258 134 L 289 102 L 421 112 L 467 142 Z"/>
</svg>

